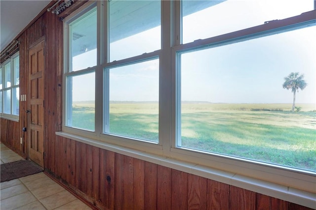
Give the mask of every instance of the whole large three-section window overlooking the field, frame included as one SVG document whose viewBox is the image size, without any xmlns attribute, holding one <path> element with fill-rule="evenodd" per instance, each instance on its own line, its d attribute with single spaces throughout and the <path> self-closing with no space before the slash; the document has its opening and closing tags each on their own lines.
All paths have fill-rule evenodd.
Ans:
<svg viewBox="0 0 316 210">
<path fill-rule="evenodd" d="M 60 135 L 314 192 L 314 1 L 280 2 L 89 1 L 64 21 Z"/>
</svg>

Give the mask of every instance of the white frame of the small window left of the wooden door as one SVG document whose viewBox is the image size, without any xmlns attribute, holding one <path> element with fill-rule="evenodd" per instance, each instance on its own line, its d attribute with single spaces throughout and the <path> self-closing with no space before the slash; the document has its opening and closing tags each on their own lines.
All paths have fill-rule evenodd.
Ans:
<svg viewBox="0 0 316 210">
<path fill-rule="evenodd" d="M 20 85 L 14 85 L 14 78 L 15 78 L 15 69 L 14 69 L 14 60 L 16 58 L 18 58 L 20 56 L 19 52 L 15 53 L 12 57 L 10 57 L 9 59 L 5 60 L 3 63 L 1 63 L 1 68 L 2 68 L 2 89 L 0 90 L 2 92 L 2 112 L 0 113 L 0 117 L 3 119 L 7 119 L 7 120 L 13 120 L 13 121 L 19 121 L 20 119 L 20 113 L 19 115 L 13 115 L 12 111 L 13 111 L 13 89 L 15 88 L 20 88 Z M 4 87 L 4 66 L 8 63 L 11 63 L 11 86 L 10 87 Z M 11 101 L 10 101 L 10 114 L 4 113 L 4 91 L 5 90 L 10 90 L 11 92 Z M 20 99 L 18 99 L 20 100 Z M 20 105 L 19 105 L 20 107 Z"/>
</svg>

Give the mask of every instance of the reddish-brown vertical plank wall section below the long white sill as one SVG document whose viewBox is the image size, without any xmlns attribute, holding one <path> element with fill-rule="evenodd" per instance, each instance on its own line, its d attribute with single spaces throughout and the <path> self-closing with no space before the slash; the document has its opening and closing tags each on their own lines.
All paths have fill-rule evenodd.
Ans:
<svg viewBox="0 0 316 210">
<path fill-rule="evenodd" d="M 47 148 L 46 172 L 99 209 L 308 209 L 63 137 L 53 147 Z"/>
</svg>

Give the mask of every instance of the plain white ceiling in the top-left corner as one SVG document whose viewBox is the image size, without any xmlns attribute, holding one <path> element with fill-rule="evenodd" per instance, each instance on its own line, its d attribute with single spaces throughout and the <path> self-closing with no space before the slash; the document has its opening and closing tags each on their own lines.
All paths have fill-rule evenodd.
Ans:
<svg viewBox="0 0 316 210">
<path fill-rule="evenodd" d="M 0 51 L 2 51 L 50 0 L 0 0 Z"/>
</svg>

